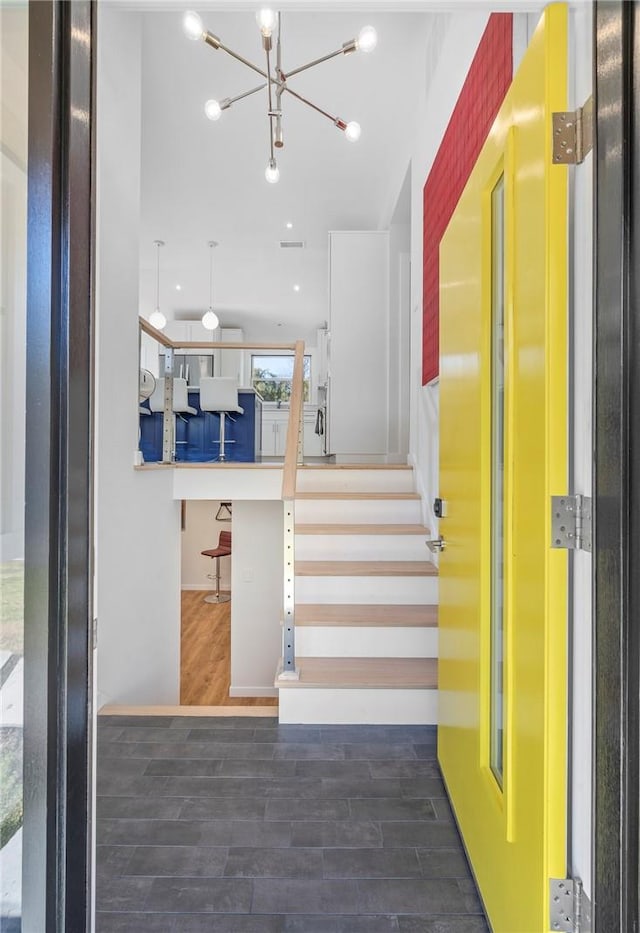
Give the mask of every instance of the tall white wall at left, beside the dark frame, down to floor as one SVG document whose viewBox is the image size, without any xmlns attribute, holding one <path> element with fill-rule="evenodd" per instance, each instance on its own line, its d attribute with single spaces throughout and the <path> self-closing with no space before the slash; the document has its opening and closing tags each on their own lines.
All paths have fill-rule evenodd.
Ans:
<svg viewBox="0 0 640 933">
<path fill-rule="evenodd" d="M 98 704 L 176 704 L 180 506 L 136 472 L 140 21 L 102 4 L 98 40 L 96 605 Z"/>
</svg>

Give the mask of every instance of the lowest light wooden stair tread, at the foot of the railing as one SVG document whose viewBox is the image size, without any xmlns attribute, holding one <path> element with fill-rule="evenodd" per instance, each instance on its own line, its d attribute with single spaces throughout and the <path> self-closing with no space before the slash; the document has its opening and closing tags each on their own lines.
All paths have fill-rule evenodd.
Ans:
<svg viewBox="0 0 640 933">
<path fill-rule="evenodd" d="M 276 686 L 404 690 L 438 686 L 437 658 L 296 658 L 296 667 L 299 680 L 276 680 Z"/>
</svg>

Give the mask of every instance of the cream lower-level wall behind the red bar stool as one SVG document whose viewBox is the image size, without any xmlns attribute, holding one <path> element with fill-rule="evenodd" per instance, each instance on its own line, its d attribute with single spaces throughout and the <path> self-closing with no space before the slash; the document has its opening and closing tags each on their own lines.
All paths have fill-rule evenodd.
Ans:
<svg viewBox="0 0 640 933">
<path fill-rule="evenodd" d="M 215 575 L 216 562 L 200 552 L 217 547 L 221 531 L 232 531 L 232 522 L 216 521 L 219 507 L 219 500 L 185 502 L 185 527 L 180 536 L 183 590 L 215 589 L 207 574 Z M 231 589 L 231 557 L 220 558 L 220 589 Z"/>
</svg>

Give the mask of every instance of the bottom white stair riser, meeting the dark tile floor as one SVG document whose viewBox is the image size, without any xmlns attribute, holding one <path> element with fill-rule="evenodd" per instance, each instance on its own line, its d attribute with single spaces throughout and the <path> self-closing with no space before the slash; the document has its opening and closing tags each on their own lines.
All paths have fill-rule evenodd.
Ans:
<svg viewBox="0 0 640 933">
<path fill-rule="evenodd" d="M 280 686 L 281 723 L 437 725 L 438 691 Z"/>
</svg>

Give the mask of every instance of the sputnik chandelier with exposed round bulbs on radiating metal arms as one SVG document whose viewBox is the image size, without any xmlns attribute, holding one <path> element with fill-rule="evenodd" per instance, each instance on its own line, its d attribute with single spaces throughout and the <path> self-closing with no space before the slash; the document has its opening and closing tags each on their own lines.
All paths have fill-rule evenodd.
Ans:
<svg viewBox="0 0 640 933">
<path fill-rule="evenodd" d="M 262 35 L 262 48 L 266 53 L 266 69 L 260 68 L 258 65 L 253 64 L 253 62 L 248 61 L 242 55 L 239 55 L 237 52 L 234 52 L 224 45 L 218 36 L 214 36 L 212 32 L 204 28 L 202 20 L 197 13 L 186 13 L 183 27 L 189 39 L 193 39 L 194 41 L 202 39 L 212 49 L 226 52 L 227 55 L 230 55 L 243 65 L 246 65 L 247 68 L 251 68 L 252 71 L 255 71 L 265 79 L 262 84 L 251 88 L 249 91 L 245 91 L 243 94 L 238 94 L 235 97 L 225 97 L 224 100 L 208 100 L 204 105 L 204 111 L 210 120 L 219 120 L 222 116 L 222 112 L 228 110 L 232 104 L 235 104 L 239 100 L 243 100 L 245 97 L 251 97 L 251 95 L 257 94 L 265 88 L 267 89 L 269 108 L 267 111 L 267 116 L 269 118 L 269 162 L 267 163 L 264 174 L 268 182 L 275 184 L 280 178 L 280 170 L 276 162 L 275 150 L 282 149 L 284 146 L 284 136 L 282 132 L 282 97 L 284 94 L 295 97 L 296 100 L 299 100 L 301 103 L 306 104 L 307 107 L 311 107 L 312 110 L 315 110 L 323 117 L 331 120 L 334 126 L 342 130 L 350 142 L 357 142 L 360 138 L 359 123 L 355 121 L 345 123 L 340 117 L 327 113 L 322 107 L 318 107 L 317 104 L 314 104 L 306 97 L 303 97 L 302 94 L 298 94 L 297 91 L 289 87 L 289 79 L 294 75 L 300 74 L 302 71 L 308 71 L 310 68 L 320 65 L 322 62 L 329 61 L 331 58 L 336 58 L 338 55 L 349 55 L 351 52 L 356 51 L 372 52 L 377 45 L 378 37 L 373 26 L 364 26 L 364 28 L 360 30 L 357 39 L 351 39 L 349 42 L 345 42 L 342 47 L 336 49 L 335 52 L 329 52 L 328 55 L 323 55 L 321 58 L 316 58 L 311 62 L 307 62 L 306 65 L 300 65 L 298 68 L 293 68 L 291 71 L 285 72 L 282 68 L 281 14 L 275 13 L 273 10 L 259 10 L 256 14 L 256 20 Z M 271 60 L 274 31 L 276 32 L 275 70 L 272 68 Z"/>
</svg>

